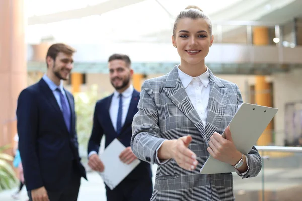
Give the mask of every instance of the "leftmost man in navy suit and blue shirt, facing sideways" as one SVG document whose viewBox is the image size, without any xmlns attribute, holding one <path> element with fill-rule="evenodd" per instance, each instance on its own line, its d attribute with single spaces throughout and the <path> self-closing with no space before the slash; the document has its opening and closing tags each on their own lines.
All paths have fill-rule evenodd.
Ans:
<svg viewBox="0 0 302 201">
<path fill-rule="evenodd" d="M 73 95 L 63 86 L 73 68 L 72 47 L 56 43 L 47 72 L 18 98 L 19 150 L 28 196 L 33 201 L 75 201 L 86 172 L 78 151 Z"/>
</svg>

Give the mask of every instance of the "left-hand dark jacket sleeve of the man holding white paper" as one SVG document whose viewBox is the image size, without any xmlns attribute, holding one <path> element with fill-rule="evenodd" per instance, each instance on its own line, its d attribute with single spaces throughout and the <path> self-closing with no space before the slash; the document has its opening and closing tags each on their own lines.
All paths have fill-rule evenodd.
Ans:
<svg viewBox="0 0 302 201">
<path fill-rule="evenodd" d="M 93 126 L 92 126 L 92 132 L 88 141 L 88 150 L 87 154 L 89 154 L 91 151 L 95 151 L 99 153 L 101 139 L 104 134 L 103 127 L 101 126 L 99 120 L 98 120 L 98 114 L 100 110 L 100 102 L 96 103 L 94 115 L 93 115 Z"/>
</svg>

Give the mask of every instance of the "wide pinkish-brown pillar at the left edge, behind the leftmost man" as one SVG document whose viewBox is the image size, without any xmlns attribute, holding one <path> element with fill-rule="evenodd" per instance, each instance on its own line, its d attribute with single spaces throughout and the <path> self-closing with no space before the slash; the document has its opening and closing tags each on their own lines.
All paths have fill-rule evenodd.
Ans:
<svg viewBox="0 0 302 201">
<path fill-rule="evenodd" d="M 27 86 L 24 1 L 0 1 L 0 146 L 13 144 L 17 98 Z"/>
</svg>

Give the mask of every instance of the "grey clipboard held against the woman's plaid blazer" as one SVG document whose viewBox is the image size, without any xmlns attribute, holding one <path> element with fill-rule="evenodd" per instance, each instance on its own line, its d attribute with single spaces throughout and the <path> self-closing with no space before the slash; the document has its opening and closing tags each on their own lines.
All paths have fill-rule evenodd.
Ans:
<svg viewBox="0 0 302 201">
<path fill-rule="evenodd" d="M 277 108 L 243 103 L 229 124 L 236 149 L 245 155 L 249 153 L 277 112 Z M 222 136 L 225 138 L 224 132 Z M 200 169 L 200 174 L 234 171 L 232 165 L 210 156 Z"/>
</svg>

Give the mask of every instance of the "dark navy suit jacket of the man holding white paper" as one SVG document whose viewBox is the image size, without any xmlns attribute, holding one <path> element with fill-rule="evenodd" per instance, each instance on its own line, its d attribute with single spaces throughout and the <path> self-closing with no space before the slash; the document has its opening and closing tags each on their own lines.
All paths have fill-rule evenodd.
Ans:
<svg viewBox="0 0 302 201">
<path fill-rule="evenodd" d="M 91 151 L 99 152 L 100 142 L 103 134 L 105 134 L 105 148 L 117 138 L 125 147 L 130 146 L 132 137 L 132 120 L 137 113 L 137 104 L 139 101 L 139 92 L 134 90 L 130 102 L 129 110 L 126 116 L 125 123 L 122 127 L 120 135 L 117 135 L 112 125 L 109 108 L 113 94 L 99 100 L 95 106 L 93 128 L 88 142 L 88 153 Z M 118 107 L 118 106 L 117 106 Z M 106 167 L 105 167 L 106 168 Z M 126 177 L 128 179 L 146 179 L 151 178 L 151 167 L 149 163 L 141 161 L 141 163 Z"/>
</svg>

